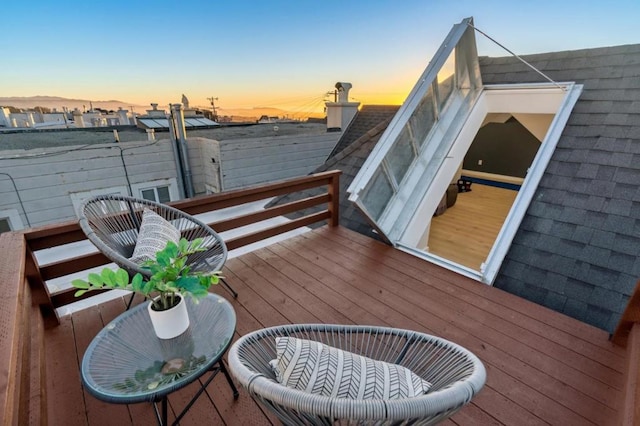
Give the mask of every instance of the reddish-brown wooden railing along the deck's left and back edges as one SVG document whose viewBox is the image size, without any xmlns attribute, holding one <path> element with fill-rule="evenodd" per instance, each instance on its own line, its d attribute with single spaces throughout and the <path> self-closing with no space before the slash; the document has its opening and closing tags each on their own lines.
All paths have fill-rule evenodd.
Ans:
<svg viewBox="0 0 640 426">
<path fill-rule="evenodd" d="M 265 200 L 312 188 L 318 195 L 210 223 L 219 232 L 313 208 L 314 213 L 226 240 L 234 249 L 296 228 L 327 221 L 338 225 L 339 171 L 172 203 L 190 214 Z M 326 204 L 326 208 L 322 206 Z M 90 253 L 39 265 L 34 252 L 85 240 L 77 222 L 0 234 L 0 420 L 2 425 L 46 424 L 44 329 L 59 324 L 56 308 L 79 300 L 74 289 L 50 294 L 47 280 L 110 263 Z"/>
</svg>

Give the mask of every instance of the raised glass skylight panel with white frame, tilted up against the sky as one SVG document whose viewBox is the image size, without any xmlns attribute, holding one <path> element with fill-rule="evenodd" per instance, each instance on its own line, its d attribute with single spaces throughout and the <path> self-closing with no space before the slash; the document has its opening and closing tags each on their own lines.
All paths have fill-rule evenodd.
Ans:
<svg viewBox="0 0 640 426">
<path fill-rule="evenodd" d="M 348 189 L 390 242 L 430 188 L 482 89 L 470 23 L 449 32 Z"/>
</svg>

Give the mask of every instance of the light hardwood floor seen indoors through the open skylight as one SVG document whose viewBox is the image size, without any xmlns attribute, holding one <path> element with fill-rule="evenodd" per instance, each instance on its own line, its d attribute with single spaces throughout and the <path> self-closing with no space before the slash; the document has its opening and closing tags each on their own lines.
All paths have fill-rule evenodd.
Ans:
<svg viewBox="0 0 640 426">
<path fill-rule="evenodd" d="M 474 183 L 456 204 L 431 221 L 429 252 L 480 270 L 517 191 Z"/>
</svg>

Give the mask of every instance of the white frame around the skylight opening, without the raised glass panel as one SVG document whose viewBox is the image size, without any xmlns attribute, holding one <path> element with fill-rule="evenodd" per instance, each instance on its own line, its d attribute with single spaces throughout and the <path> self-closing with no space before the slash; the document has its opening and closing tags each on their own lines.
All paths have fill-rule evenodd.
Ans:
<svg viewBox="0 0 640 426">
<path fill-rule="evenodd" d="M 506 256 L 511 242 L 515 237 L 520 223 L 533 199 L 533 195 L 538 188 L 538 184 L 542 179 L 551 156 L 556 149 L 560 135 L 569 120 L 571 111 L 582 93 L 583 86 L 574 83 L 558 83 L 556 84 L 538 83 L 538 84 L 504 84 L 504 85 L 487 85 L 481 94 L 478 102 L 474 106 L 471 114 L 466 120 L 465 126 L 458 136 L 458 141 L 447 156 L 451 160 L 452 165 L 460 164 L 464 158 L 475 134 L 478 132 L 484 118 L 489 113 L 538 113 L 538 114 L 555 114 L 547 134 L 542 141 L 538 153 L 536 154 L 527 176 L 525 177 L 518 195 L 507 215 L 500 233 L 487 256 L 486 261 L 481 265 L 480 270 L 462 266 L 449 259 L 442 258 L 432 253 L 416 248 L 421 242 L 424 242 L 423 233 L 424 223 L 421 218 L 431 217 L 437 201 L 440 197 L 425 196 L 417 213 L 404 229 L 404 233 L 394 244 L 403 251 L 409 252 L 415 256 L 428 260 L 432 263 L 451 269 L 462 275 L 482 281 L 486 284 L 493 284 L 502 261 Z M 561 99 L 558 99 L 561 97 Z M 446 164 L 440 169 L 432 186 L 446 187 L 451 177 L 446 175 Z M 456 166 L 457 168 L 457 166 Z M 442 193 L 439 191 L 438 193 Z M 437 198 L 437 199 L 436 199 Z M 435 201 L 434 201 L 435 200 Z M 426 231 L 428 233 L 428 230 Z"/>
</svg>

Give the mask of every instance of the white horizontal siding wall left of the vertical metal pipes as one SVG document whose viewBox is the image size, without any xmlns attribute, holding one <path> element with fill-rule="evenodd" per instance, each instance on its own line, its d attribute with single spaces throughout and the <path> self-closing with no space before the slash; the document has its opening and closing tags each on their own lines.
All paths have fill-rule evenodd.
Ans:
<svg viewBox="0 0 640 426">
<path fill-rule="evenodd" d="M 122 157 L 121 157 L 122 150 Z M 123 166 L 124 161 L 124 166 Z M 0 210 L 16 209 L 28 226 L 76 218 L 70 194 L 176 177 L 168 140 L 0 153 Z M 10 175 L 20 192 L 20 205 Z"/>
</svg>

